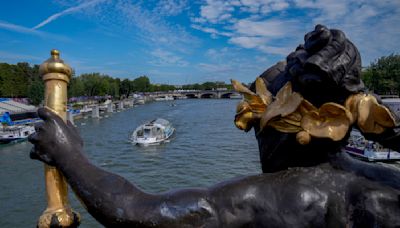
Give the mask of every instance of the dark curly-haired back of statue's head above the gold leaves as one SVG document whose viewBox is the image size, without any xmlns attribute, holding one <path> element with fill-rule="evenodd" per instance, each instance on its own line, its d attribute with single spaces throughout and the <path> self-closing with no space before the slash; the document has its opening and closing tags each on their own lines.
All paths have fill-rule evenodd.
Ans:
<svg viewBox="0 0 400 228">
<path fill-rule="evenodd" d="M 323 25 L 304 36 L 304 44 L 287 56 L 286 64 L 278 63 L 261 77 L 275 93 L 291 81 L 293 89 L 316 106 L 343 103 L 350 94 L 364 90 L 357 48 L 342 31 Z"/>
</svg>

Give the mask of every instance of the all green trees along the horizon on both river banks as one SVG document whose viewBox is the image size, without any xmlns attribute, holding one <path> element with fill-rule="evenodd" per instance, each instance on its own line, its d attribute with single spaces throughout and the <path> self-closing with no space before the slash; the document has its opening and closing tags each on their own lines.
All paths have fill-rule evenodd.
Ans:
<svg viewBox="0 0 400 228">
<path fill-rule="evenodd" d="M 366 87 L 379 95 L 399 95 L 400 55 L 383 56 L 362 71 Z M 174 86 L 152 84 L 146 76 L 135 79 L 120 79 L 100 73 L 73 75 L 68 86 L 68 97 L 105 96 L 123 98 L 135 92 L 185 90 L 209 90 L 214 88 L 232 89 L 224 82 L 205 82 Z M 34 105 L 40 104 L 44 95 L 44 82 L 39 75 L 39 65 L 22 62 L 0 63 L 0 97 L 27 97 Z"/>
</svg>

